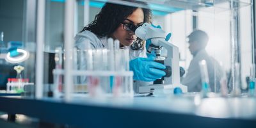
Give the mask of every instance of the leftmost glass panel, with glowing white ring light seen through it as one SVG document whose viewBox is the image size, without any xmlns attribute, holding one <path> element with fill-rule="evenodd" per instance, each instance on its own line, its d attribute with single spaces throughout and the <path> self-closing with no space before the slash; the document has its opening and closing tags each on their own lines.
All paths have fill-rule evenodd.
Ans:
<svg viewBox="0 0 256 128">
<path fill-rule="evenodd" d="M 8 93 L 35 83 L 35 4 L 0 1 L 0 89 Z"/>
</svg>

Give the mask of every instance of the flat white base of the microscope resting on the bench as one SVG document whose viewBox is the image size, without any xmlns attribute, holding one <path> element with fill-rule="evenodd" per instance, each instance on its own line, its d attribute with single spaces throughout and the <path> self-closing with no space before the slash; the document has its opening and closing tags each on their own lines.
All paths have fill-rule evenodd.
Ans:
<svg viewBox="0 0 256 128">
<path fill-rule="evenodd" d="M 159 90 L 159 89 L 163 89 L 163 90 L 172 90 L 176 87 L 179 87 L 183 93 L 188 92 L 188 87 L 184 86 L 182 84 L 179 85 L 173 85 L 173 84 L 152 84 L 152 85 L 148 85 L 148 86 L 140 86 L 139 87 L 139 93 L 153 93 L 154 90 Z"/>
</svg>

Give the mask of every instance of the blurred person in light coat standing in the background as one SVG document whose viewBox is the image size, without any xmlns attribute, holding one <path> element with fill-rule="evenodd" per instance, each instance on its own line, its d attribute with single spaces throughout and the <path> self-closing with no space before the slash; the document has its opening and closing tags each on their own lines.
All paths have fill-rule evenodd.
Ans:
<svg viewBox="0 0 256 128">
<path fill-rule="evenodd" d="M 188 86 L 188 92 L 200 92 L 202 88 L 202 81 L 200 76 L 199 62 L 205 60 L 207 63 L 207 70 L 209 74 L 209 84 L 211 92 L 220 91 L 220 79 L 222 69 L 218 61 L 209 56 L 205 51 L 209 36 L 202 30 L 195 30 L 189 36 L 189 51 L 193 55 L 188 68 L 188 73 L 182 79 L 182 84 Z M 215 88 L 216 87 L 216 88 Z"/>
</svg>

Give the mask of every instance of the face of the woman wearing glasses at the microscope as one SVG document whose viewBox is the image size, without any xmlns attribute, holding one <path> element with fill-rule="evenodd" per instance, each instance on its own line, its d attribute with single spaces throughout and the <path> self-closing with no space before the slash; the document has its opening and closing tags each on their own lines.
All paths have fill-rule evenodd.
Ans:
<svg viewBox="0 0 256 128">
<path fill-rule="evenodd" d="M 127 17 L 127 19 L 123 21 L 123 23 L 140 26 L 143 24 L 143 20 L 143 10 L 141 8 L 137 8 L 131 15 L 129 15 L 129 17 Z M 120 45 L 123 46 L 130 46 L 132 42 L 134 42 L 137 38 L 133 31 L 124 29 L 124 24 L 120 24 L 111 37 L 114 39 L 118 39 L 120 41 Z"/>
</svg>

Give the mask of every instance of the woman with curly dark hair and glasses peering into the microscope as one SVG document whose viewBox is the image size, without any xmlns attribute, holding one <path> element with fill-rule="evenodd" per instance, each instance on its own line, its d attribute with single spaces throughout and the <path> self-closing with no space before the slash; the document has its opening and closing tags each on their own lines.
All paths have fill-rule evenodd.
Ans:
<svg viewBox="0 0 256 128">
<path fill-rule="evenodd" d="M 144 4 L 142 2 L 136 2 Z M 89 40 L 93 49 L 107 46 L 109 37 L 120 41 L 120 48 L 129 49 L 130 69 L 134 72 L 134 91 L 138 92 L 138 86 L 152 84 L 165 75 L 161 69 L 166 68 L 161 63 L 154 62 L 154 58 L 147 58 L 145 40 L 138 38 L 131 27 L 141 26 L 145 22 L 151 22 L 151 10 L 121 4 L 106 3 L 96 15 L 95 20 L 84 27 L 77 34 L 76 47 L 84 49 L 85 40 Z"/>
</svg>

